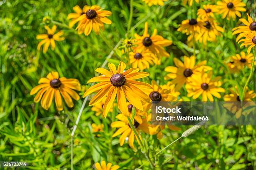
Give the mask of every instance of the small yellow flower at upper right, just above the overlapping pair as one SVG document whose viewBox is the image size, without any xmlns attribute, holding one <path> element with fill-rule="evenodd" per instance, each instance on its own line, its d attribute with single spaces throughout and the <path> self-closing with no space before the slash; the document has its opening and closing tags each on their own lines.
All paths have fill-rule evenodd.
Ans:
<svg viewBox="0 0 256 170">
<path fill-rule="evenodd" d="M 208 18 L 214 18 L 214 13 L 217 12 L 215 5 L 203 5 L 203 9 L 197 10 L 198 18 L 201 18 L 203 20 L 207 20 Z"/>
</svg>

